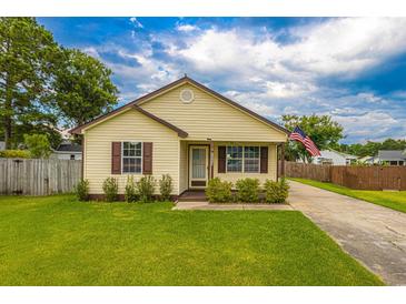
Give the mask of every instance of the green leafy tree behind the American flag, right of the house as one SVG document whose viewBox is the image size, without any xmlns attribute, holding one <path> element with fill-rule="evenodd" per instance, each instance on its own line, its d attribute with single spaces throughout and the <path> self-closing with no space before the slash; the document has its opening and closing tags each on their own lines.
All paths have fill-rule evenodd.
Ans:
<svg viewBox="0 0 406 304">
<path fill-rule="evenodd" d="M 343 126 L 331 120 L 329 115 L 283 115 L 284 125 L 293 131 L 298 125 L 314 141 L 319 150 L 336 145 L 343 135 Z M 311 155 L 300 142 L 290 141 L 286 145 L 289 160 L 300 158 L 304 162 L 311 162 Z"/>
</svg>

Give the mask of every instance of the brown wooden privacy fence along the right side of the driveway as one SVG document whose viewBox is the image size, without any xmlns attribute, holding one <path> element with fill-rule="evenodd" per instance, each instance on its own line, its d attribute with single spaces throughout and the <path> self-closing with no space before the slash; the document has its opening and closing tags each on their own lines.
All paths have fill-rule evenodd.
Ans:
<svg viewBox="0 0 406 304">
<path fill-rule="evenodd" d="M 285 175 L 331 182 L 358 190 L 406 190 L 406 166 L 320 165 L 285 162 Z"/>
</svg>

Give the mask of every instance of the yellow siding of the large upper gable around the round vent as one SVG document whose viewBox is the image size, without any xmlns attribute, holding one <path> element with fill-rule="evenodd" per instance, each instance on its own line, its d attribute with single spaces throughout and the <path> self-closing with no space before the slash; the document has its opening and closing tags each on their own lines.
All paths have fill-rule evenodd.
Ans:
<svg viewBox="0 0 406 304">
<path fill-rule="evenodd" d="M 179 94 L 184 89 L 194 91 L 191 103 L 180 101 Z M 190 141 L 286 141 L 281 131 L 188 83 L 140 107 L 188 132 L 187 140 Z"/>
</svg>

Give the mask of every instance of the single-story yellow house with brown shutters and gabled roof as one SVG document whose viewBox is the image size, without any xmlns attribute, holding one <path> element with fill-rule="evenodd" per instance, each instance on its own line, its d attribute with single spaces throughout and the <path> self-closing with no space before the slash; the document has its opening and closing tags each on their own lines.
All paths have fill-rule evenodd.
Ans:
<svg viewBox="0 0 406 304">
<path fill-rule="evenodd" d="M 208 180 L 277 179 L 288 131 L 197 81 L 184 78 L 70 131 L 83 135 L 83 178 L 95 199 L 113 176 L 170 174 L 172 195 Z M 283 153 L 283 152 L 281 152 Z"/>
</svg>

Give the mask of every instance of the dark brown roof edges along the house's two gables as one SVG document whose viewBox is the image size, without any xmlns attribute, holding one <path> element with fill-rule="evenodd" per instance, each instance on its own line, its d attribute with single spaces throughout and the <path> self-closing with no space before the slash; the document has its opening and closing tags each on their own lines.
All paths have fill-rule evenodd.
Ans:
<svg viewBox="0 0 406 304">
<path fill-rule="evenodd" d="M 162 123 L 162 124 L 165 124 L 167 126 L 171 125 L 172 128 L 176 128 L 177 130 L 180 130 L 182 134 L 184 133 L 187 134 L 187 132 L 182 131 L 181 129 L 179 129 L 179 128 L 170 124 L 169 122 L 167 122 L 167 121 L 165 121 L 162 119 L 157 118 L 156 115 L 154 115 L 154 114 L 147 112 L 146 110 L 141 109 L 140 107 L 138 107 L 139 104 L 141 104 L 141 103 L 143 103 L 143 102 L 146 102 L 146 101 L 148 101 L 148 100 L 157 97 L 157 95 L 160 95 L 160 94 L 165 93 L 166 91 L 168 91 L 170 89 L 174 89 L 174 88 L 176 88 L 178 85 L 181 85 L 184 83 L 190 83 L 190 84 L 192 84 L 192 85 L 201 89 L 202 91 L 206 91 L 206 92 L 208 92 L 211 95 L 215 95 L 216 98 L 222 100 L 224 102 L 228 103 L 229 105 L 239 109 L 240 111 L 247 113 L 248 115 L 251 115 L 251 116 L 256 118 L 257 120 L 260 120 L 261 122 L 268 124 L 271 128 L 275 128 L 275 129 L 277 129 L 277 130 L 279 130 L 279 131 L 281 131 L 281 132 L 286 133 L 286 134 L 289 134 L 290 133 L 288 130 L 286 130 L 285 128 L 280 126 L 279 124 L 277 124 L 277 123 L 275 123 L 275 122 L 273 122 L 273 121 L 270 121 L 270 120 L 268 120 L 268 119 L 266 119 L 266 118 L 264 118 L 264 116 L 255 113 L 254 111 L 251 111 L 251 110 L 242 107 L 241 104 L 239 104 L 239 103 L 237 103 L 237 102 L 235 102 L 235 101 L 232 101 L 232 100 L 230 100 L 230 99 L 221 95 L 220 93 L 217 93 L 216 91 L 207 88 L 206 85 L 197 82 L 196 80 L 192 80 L 191 78 L 187 77 L 186 74 L 185 74 L 185 77 L 182 77 L 182 78 L 180 78 L 180 79 L 178 79 L 178 80 L 176 80 L 176 81 L 174 81 L 174 82 L 171 82 L 171 83 L 169 83 L 167 85 L 164 85 L 162 88 L 160 88 L 160 89 L 158 89 L 158 90 L 156 90 L 154 92 L 150 92 L 150 93 L 148 93 L 148 94 L 146 94 L 143 97 L 140 97 L 140 98 L 138 98 L 138 99 L 136 99 L 136 100 L 133 100 L 133 101 L 131 101 L 131 102 L 129 102 L 129 103 L 127 103 L 127 104 L 125 104 L 122 107 L 119 107 L 116 110 L 113 110 L 113 111 L 111 111 L 111 112 L 109 112 L 107 114 L 100 115 L 100 116 L 93 119 L 90 122 L 87 122 L 85 124 L 78 125 L 78 126 L 71 129 L 69 132 L 72 133 L 72 134 L 80 134 L 83 129 L 86 129 L 86 128 L 88 128 L 88 126 L 90 126 L 90 125 L 92 125 L 92 124 L 95 124 L 97 122 L 100 122 L 100 121 L 102 121 L 102 120 L 105 120 L 105 119 L 107 119 L 107 118 L 109 118 L 111 115 L 118 114 L 119 112 L 121 112 L 121 111 L 123 111 L 123 110 L 126 110 L 128 108 L 131 108 L 131 107 L 135 107 L 136 105 L 137 108 L 135 108 L 135 109 L 138 110 L 139 112 L 141 112 L 143 114 L 147 114 L 148 113 L 147 115 L 150 116 L 150 118 L 152 118 L 152 119 L 155 119 L 156 121 L 158 121 L 158 122 L 160 122 L 160 123 Z M 178 132 L 178 134 L 179 134 L 179 132 Z M 179 134 L 179 136 L 181 136 L 181 135 Z"/>
</svg>

